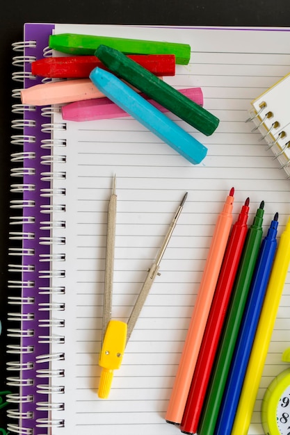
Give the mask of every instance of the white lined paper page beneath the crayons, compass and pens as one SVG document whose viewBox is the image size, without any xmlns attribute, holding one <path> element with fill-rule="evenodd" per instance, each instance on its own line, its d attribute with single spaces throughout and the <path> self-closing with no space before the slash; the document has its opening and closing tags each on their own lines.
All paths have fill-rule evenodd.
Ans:
<svg viewBox="0 0 290 435">
<path fill-rule="evenodd" d="M 220 118 L 209 137 L 175 115 L 168 116 L 208 147 L 200 165 L 192 165 L 131 117 L 96 122 L 66 122 L 56 128 L 54 170 L 66 172 L 54 180 L 54 261 L 52 286 L 65 288 L 52 302 L 65 303 L 53 318 L 65 320 L 54 334 L 65 343 L 51 346 L 65 354 L 52 369 L 65 377 L 65 429 L 53 435 L 170 435 L 179 428 L 165 422 L 186 331 L 209 252 L 218 213 L 230 188 L 235 189 L 234 222 L 250 197 L 249 224 L 265 202 L 264 235 L 275 212 L 279 236 L 290 214 L 289 181 L 259 132 L 245 123 L 250 101 L 289 72 L 290 33 L 284 30 L 230 28 L 146 28 L 134 26 L 56 25 L 56 33 L 87 33 L 127 38 L 170 40 L 191 44 L 191 63 L 177 65 L 177 75 L 165 78 L 175 88 L 200 86 L 204 107 Z M 54 118 L 56 127 L 61 115 Z M 60 145 L 60 140 L 66 146 Z M 65 161 L 65 163 L 63 163 Z M 118 213 L 113 277 L 114 319 L 127 321 L 147 270 L 152 265 L 177 207 L 188 192 L 140 318 L 127 344 L 120 370 L 115 370 L 107 400 L 97 396 L 102 333 L 104 263 L 108 200 L 116 177 Z M 61 189 L 65 189 L 61 190 Z M 65 195 L 62 195 L 64 194 Z M 65 238 L 62 239 L 62 238 Z M 58 244 L 59 243 L 59 244 Z M 63 257 L 61 257 L 63 259 Z M 289 346 L 290 276 L 268 352 L 249 434 L 263 434 L 260 407 L 265 388 L 287 366 L 282 352 Z"/>
</svg>

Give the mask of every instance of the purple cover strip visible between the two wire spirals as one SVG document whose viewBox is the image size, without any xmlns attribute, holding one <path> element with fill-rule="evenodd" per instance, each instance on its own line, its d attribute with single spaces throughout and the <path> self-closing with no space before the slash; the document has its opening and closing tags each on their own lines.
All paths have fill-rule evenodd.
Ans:
<svg viewBox="0 0 290 435">
<path fill-rule="evenodd" d="M 26 47 L 24 49 L 24 56 L 33 56 L 36 59 L 43 58 L 43 49 L 48 46 L 49 35 L 51 35 L 54 25 L 52 24 L 25 24 L 24 26 L 24 41 L 35 41 L 35 47 Z M 31 71 L 31 63 L 26 62 L 24 65 L 24 71 Z M 41 83 L 41 78 L 25 78 L 24 88 L 29 88 L 32 85 Z M 35 186 L 33 191 L 24 191 L 24 200 L 32 200 L 35 202 L 33 208 L 24 207 L 24 216 L 35 217 L 33 224 L 24 223 L 24 233 L 34 233 L 34 238 L 24 238 L 24 249 L 34 249 L 34 256 L 23 256 L 23 265 L 33 264 L 34 270 L 29 272 L 23 272 L 22 280 L 24 282 L 33 281 L 32 287 L 24 286 L 22 289 L 23 297 L 34 297 L 35 302 L 33 305 L 22 306 L 22 314 L 26 315 L 33 313 L 33 320 L 22 321 L 22 329 L 32 329 L 34 331 L 33 337 L 22 338 L 22 347 L 32 347 L 32 352 L 22 354 L 22 363 L 33 363 L 32 370 L 22 370 L 22 379 L 33 379 L 33 385 L 22 386 L 20 389 L 20 396 L 26 397 L 31 395 L 33 397 L 32 402 L 24 402 L 20 405 L 21 413 L 32 413 L 31 419 L 22 419 L 19 421 L 21 428 L 33 429 L 32 434 L 47 433 L 47 429 L 38 429 L 39 422 L 44 419 L 47 420 L 47 411 L 38 411 L 38 402 L 48 402 L 49 395 L 40 393 L 40 385 L 49 384 L 49 379 L 38 377 L 37 370 L 49 368 L 49 363 L 38 362 L 38 356 L 49 354 L 49 344 L 39 343 L 39 336 L 49 336 L 49 327 L 40 327 L 40 321 L 49 319 L 50 311 L 39 310 L 40 304 L 49 304 L 49 295 L 40 294 L 39 289 L 43 287 L 49 287 L 49 277 L 46 273 L 49 272 L 49 261 L 40 261 L 41 254 L 49 254 L 49 245 L 42 245 L 40 243 L 41 238 L 49 237 L 49 229 L 41 229 L 43 226 L 41 222 L 49 221 L 50 215 L 41 213 L 43 204 L 49 204 L 49 198 L 42 196 L 42 189 L 49 188 L 49 181 L 41 180 L 41 172 L 49 172 L 50 168 L 47 165 L 41 163 L 41 156 L 49 155 L 50 149 L 43 149 L 40 147 L 42 140 L 50 138 L 48 133 L 42 132 L 42 124 L 49 122 L 49 118 L 43 117 L 41 114 L 41 107 L 36 107 L 35 111 L 24 111 L 24 120 L 34 120 L 35 126 L 25 126 L 24 136 L 35 136 L 35 143 L 24 142 L 24 151 L 34 151 L 35 160 L 24 160 L 24 167 L 35 168 L 35 174 L 25 175 L 23 183 L 33 184 Z M 41 420 L 40 420 L 41 419 Z M 43 422 L 43 420 L 42 420 Z M 24 429 L 25 430 L 25 429 Z M 24 433 L 24 432 L 19 432 Z M 25 432 L 26 433 L 26 432 Z M 30 433 L 30 432 L 27 432 Z"/>
</svg>

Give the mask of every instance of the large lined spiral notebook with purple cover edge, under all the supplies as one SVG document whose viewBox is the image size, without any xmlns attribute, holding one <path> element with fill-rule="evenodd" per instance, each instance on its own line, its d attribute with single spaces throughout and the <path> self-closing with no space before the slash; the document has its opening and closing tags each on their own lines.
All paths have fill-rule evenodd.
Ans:
<svg viewBox="0 0 290 435">
<path fill-rule="evenodd" d="M 23 210 L 23 229 L 10 237 L 22 243 L 17 251 L 22 279 L 10 282 L 19 298 L 10 299 L 17 306 L 9 314 L 13 325 L 20 325 L 14 327 L 19 345 L 8 349 L 9 376 L 19 391 L 8 397 L 8 429 L 33 435 L 176 434 L 179 429 L 164 418 L 225 196 L 234 186 L 236 214 L 250 197 L 251 216 L 264 200 L 264 226 L 278 212 L 279 234 L 290 214 L 289 181 L 261 147 L 260 134 L 245 123 L 255 95 L 287 74 L 290 31 L 26 24 L 25 87 L 38 83 L 29 73 L 31 61 L 43 56 L 51 32 L 190 44 L 190 63 L 177 65 L 177 74 L 165 80 L 177 89 L 201 87 L 204 107 L 220 118 L 220 125 L 205 137 L 168 114 L 209 149 L 202 164 L 191 165 L 131 117 L 63 122 L 57 107 L 21 108 L 24 120 L 16 125 L 24 124 L 24 134 L 13 138 L 20 145 L 19 156 L 13 157 L 13 164 L 20 161 L 19 169 L 13 173 L 24 179 L 13 182 L 12 190 L 23 198 L 11 204 Z M 102 400 L 97 396 L 98 359 L 114 176 L 118 204 L 112 315 L 118 320 L 127 321 L 177 206 L 185 192 L 188 197 L 161 261 L 161 276 L 140 313 L 122 366 L 115 370 L 110 396 Z M 289 295 L 287 277 L 249 435 L 263 434 L 261 399 L 284 369 Z"/>
</svg>

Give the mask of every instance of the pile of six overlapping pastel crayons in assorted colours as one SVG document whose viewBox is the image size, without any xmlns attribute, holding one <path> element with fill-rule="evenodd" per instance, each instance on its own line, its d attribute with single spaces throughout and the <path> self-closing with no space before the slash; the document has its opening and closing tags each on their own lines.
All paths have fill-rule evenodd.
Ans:
<svg viewBox="0 0 290 435">
<path fill-rule="evenodd" d="M 70 56 L 35 60 L 31 73 L 61 80 L 22 90 L 22 104 L 61 104 L 63 119 L 73 121 L 131 115 L 191 163 L 204 159 L 207 147 L 163 115 L 170 111 L 206 136 L 218 127 L 200 88 L 163 81 L 189 63 L 188 44 L 61 34 L 50 36 L 49 47 Z"/>
</svg>

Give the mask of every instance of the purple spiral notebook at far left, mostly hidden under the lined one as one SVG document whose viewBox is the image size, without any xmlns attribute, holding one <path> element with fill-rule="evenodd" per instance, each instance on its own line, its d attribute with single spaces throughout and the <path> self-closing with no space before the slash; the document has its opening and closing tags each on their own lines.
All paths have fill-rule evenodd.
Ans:
<svg viewBox="0 0 290 435">
<path fill-rule="evenodd" d="M 8 297 L 11 312 L 8 320 L 11 328 L 8 336 L 11 341 L 19 338 L 19 344 L 8 345 L 7 385 L 19 392 L 8 395 L 10 404 L 19 404 L 19 409 L 9 407 L 11 432 L 18 426 L 30 433 L 31 424 L 27 421 L 45 418 L 47 421 L 47 385 L 49 384 L 49 362 L 39 359 L 49 354 L 50 318 L 50 199 L 49 158 L 51 134 L 45 126 L 42 108 L 23 106 L 20 89 L 29 88 L 41 79 L 31 76 L 31 60 L 43 57 L 51 25 L 26 26 L 24 41 L 15 43 L 13 79 L 19 85 L 13 90 L 15 115 L 13 127 L 16 129 L 11 138 L 15 152 L 11 155 L 11 225 L 10 256 L 15 264 L 10 264 L 11 272 L 19 272 L 19 279 L 10 280 Z M 22 67 L 24 65 L 24 67 Z M 46 169 L 48 168 L 48 169 Z M 19 217 L 19 211 L 21 216 Z M 15 224 L 21 228 L 15 230 Z M 20 261 L 19 261 L 20 258 Z M 17 309 L 20 306 L 20 309 Z M 19 419 L 19 422 L 17 420 Z M 19 432 L 17 432 L 19 433 Z"/>
</svg>

